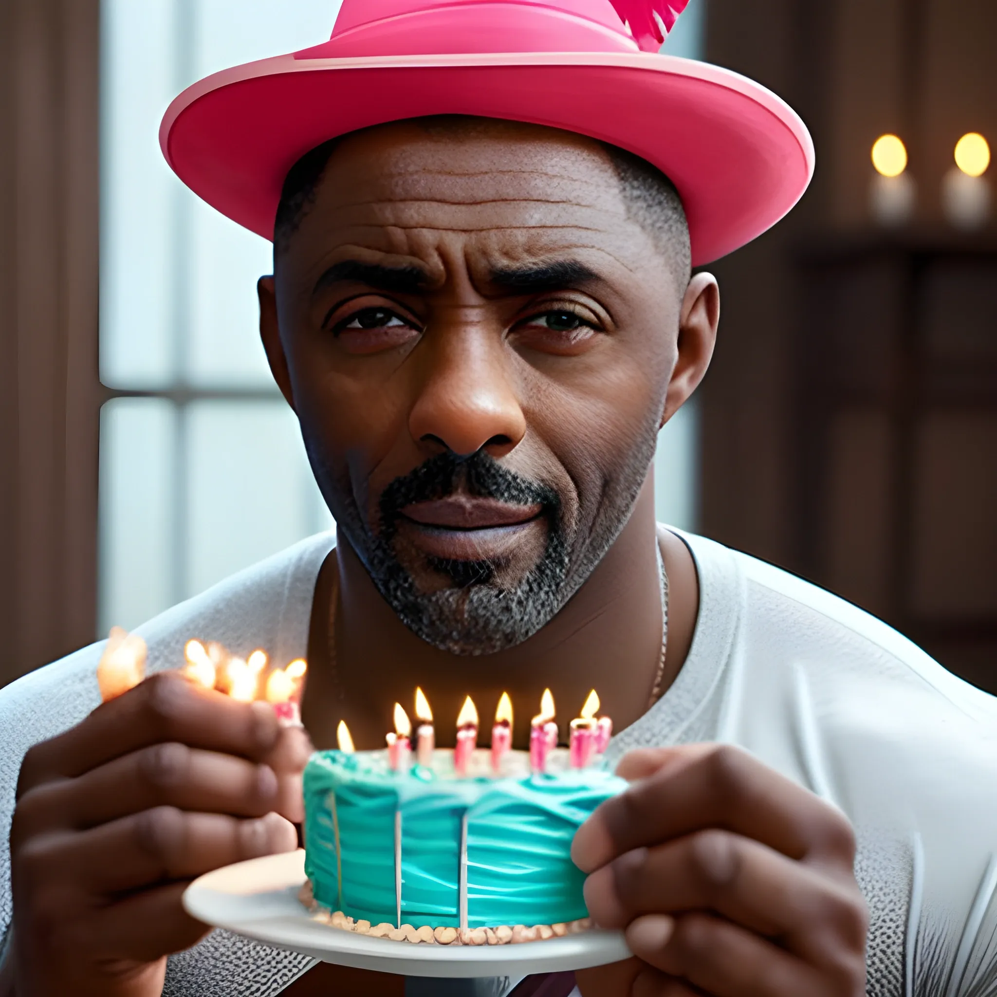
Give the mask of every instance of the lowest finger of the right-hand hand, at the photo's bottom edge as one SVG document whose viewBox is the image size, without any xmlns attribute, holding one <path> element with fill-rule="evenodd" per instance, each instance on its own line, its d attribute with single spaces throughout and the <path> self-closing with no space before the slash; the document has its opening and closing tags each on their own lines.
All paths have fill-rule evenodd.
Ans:
<svg viewBox="0 0 997 997">
<path fill-rule="evenodd" d="M 818 971 L 772 942 L 710 914 L 678 917 L 670 931 L 657 916 L 626 932 L 631 951 L 669 976 L 714 997 L 831 997 L 864 993 L 862 953 Z"/>
</svg>

